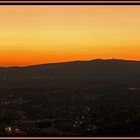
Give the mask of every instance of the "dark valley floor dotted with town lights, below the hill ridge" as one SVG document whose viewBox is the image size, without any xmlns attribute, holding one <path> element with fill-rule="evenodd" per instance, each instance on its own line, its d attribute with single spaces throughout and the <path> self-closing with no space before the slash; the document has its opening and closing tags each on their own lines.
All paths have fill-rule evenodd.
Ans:
<svg viewBox="0 0 140 140">
<path fill-rule="evenodd" d="M 0 136 L 140 136 L 140 81 L 3 79 L 0 85 Z"/>
</svg>

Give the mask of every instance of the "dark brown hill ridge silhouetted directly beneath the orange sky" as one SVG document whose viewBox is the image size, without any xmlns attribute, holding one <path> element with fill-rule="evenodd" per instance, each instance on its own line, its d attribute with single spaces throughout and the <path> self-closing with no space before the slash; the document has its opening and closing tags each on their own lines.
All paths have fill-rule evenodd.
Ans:
<svg viewBox="0 0 140 140">
<path fill-rule="evenodd" d="M 1 67 L 1 79 L 93 79 L 140 81 L 140 61 L 95 59 L 40 64 L 26 67 Z"/>
</svg>

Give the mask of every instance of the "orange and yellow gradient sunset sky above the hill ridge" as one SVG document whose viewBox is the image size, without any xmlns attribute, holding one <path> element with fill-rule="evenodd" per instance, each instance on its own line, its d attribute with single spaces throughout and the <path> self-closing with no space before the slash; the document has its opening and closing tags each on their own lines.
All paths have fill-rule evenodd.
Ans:
<svg viewBox="0 0 140 140">
<path fill-rule="evenodd" d="M 140 60 L 140 6 L 0 6 L 0 66 Z"/>
</svg>

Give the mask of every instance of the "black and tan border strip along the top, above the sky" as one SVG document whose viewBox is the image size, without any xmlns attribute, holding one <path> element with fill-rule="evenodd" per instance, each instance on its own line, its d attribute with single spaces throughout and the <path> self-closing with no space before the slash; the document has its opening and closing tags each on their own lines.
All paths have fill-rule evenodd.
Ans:
<svg viewBox="0 0 140 140">
<path fill-rule="evenodd" d="M 28 1 L 28 0 L 15 0 L 15 1 L 1 1 L 0 5 L 140 5 L 139 0 L 128 0 L 128 1 L 101 1 L 101 0 L 87 0 L 87 1 L 47 1 L 47 0 L 34 0 L 34 1 Z"/>
</svg>

